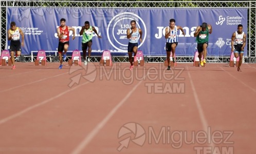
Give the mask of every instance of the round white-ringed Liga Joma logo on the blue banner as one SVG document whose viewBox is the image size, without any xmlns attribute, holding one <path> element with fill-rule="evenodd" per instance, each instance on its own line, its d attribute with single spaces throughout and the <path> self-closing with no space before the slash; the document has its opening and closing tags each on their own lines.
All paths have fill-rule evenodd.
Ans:
<svg viewBox="0 0 256 154">
<path fill-rule="evenodd" d="M 119 13 L 112 18 L 107 25 L 107 38 L 109 43 L 117 50 L 127 51 L 128 40 L 127 40 L 127 29 L 130 28 L 131 21 L 136 21 L 136 27 L 142 30 L 142 43 L 139 43 L 140 47 L 145 37 L 147 36 L 147 28 L 144 21 L 136 14 L 131 12 Z"/>
</svg>

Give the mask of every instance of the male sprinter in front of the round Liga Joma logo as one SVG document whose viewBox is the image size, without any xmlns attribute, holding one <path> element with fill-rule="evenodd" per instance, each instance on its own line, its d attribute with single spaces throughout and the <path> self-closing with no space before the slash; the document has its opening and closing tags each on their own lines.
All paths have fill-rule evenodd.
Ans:
<svg viewBox="0 0 256 154">
<path fill-rule="evenodd" d="M 129 39 L 128 44 L 128 55 L 129 62 L 131 63 L 130 70 L 133 69 L 132 56 L 134 53 L 134 62 L 137 61 L 136 54 L 138 50 L 138 40 L 142 43 L 142 30 L 136 27 L 136 21 L 131 21 L 131 28 L 127 29 L 127 38 Z"/>
</svg>

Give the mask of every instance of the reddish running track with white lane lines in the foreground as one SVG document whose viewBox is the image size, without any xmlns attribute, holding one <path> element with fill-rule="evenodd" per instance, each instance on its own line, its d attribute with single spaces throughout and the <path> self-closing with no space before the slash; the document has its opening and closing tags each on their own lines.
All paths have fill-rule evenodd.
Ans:
<svg viewBox="0 0 256 154">
<path fill-rule="evenodd" d="M 0 66 L 0 153 L 255 153 L 255 64 L 58 66 Z"/>
</svg>

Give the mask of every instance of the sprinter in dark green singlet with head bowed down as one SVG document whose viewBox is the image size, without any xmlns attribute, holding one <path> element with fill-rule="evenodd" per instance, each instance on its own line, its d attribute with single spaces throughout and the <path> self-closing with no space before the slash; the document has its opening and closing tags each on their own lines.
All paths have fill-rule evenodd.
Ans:
<svg viewBox="0 0 256 154">
<path fill-rule="evenodd" d="M 203 23 L 202 26 L 197 26 L 194 33 L 194 37 L 196 37 L 196 42 L 197 42 L 198 58 L 201 66 L 204 66 L 204 64 L 206 63 L 209 34 L 211 33 L 212 33 L 212 26 L 207 23 Z M 204 55 L 203 61 L 202 61 L 202 55 Z"/>
</svg>

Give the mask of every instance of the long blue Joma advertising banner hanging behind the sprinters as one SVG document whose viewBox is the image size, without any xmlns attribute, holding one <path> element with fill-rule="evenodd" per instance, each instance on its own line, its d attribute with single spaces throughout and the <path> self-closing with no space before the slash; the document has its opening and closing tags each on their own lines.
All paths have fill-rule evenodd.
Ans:
<svg viewBox="0 0 256 154">
<path fill-rule="evenodd" d="M 93 52 L 111 50 L 112 53 L 127 53 L 129 40 L 126 31 L 132 20 L 136 21 L 142 34 L 142 42 L 139 42 L 139 50 L 144 55 L 166 55 L 165 28 L 169 26 L 169 20 L 174 18 L 176 25 L 181 26 L 186 35 L 178 32 L 178 46 L 176 55 L 194 55 L 194 32 L 197 26 L 203 22 L 212 25 L 213 32 L 209 36 L 208 55 L 230 55 L 231 35 L 237 30 L 237 25 L 242 24 L 247 32 L 247 9 L 160 9 L 160 8 L 8 8 L 7 28 L 14 21 L 25 34 L 22 54 L 30 54 L 31 51 L 46 50 L 57 51 L 59 39 L 57 27 L 60 19 L 66 19 L 66 25 L 76 30 L 75 40 L 72 40 L 70 31 L 70 51 L 82 50 L 82 36 L 79 32 L 85 21 L 94 26 L 102 38 L 96 34 L 92 38 Z M 7 29 L 7 30 L 8 30 Z M 10 41 L 8 42 L 8 45 Z M 245 47 L 247 55 L 247 47 Z"/>
</svg>

